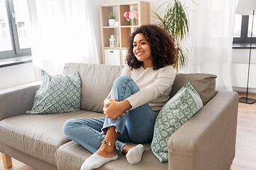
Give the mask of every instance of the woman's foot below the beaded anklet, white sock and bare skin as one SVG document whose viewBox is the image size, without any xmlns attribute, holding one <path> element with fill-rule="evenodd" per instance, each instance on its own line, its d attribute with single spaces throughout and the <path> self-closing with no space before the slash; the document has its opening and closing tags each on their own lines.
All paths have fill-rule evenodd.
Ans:
<svg viewBox="0 0 256 170">
<path fill-rule="evenodd" d="M 87 158 L 80 170 L 97 169 L 107 162 L 117 160 L 117 152 L 114 146 L 102 144 L 92 156 Z"/>
</svg>

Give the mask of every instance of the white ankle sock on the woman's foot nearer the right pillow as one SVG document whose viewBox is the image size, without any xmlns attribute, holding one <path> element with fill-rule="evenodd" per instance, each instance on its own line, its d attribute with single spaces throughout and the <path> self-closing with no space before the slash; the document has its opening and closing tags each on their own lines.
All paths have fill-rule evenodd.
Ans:
<svg viewBox="0 0 256 170">
<path fill-rule="evenodd" d="M 133 147 L 132 149 L 129 149 L 129 151 L 126 154 L 127 161 L 130 164 L 138 164 L 142 161 L 142 154 L 144 152 L 143 145 L 139 144 L 136 147 Z"/>
</svg>

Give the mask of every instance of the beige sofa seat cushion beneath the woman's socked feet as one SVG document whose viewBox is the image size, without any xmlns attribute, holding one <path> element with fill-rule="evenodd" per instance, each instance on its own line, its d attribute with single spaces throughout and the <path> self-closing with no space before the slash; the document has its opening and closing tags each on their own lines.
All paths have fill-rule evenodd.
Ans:
<svg viewBox="0 0 256 170">
<path fill-rule="evenodd" d="M 128 145 L 134 145 L 127 143 Z M 151 151 L 150 144 L 144 144 L 144 154 L 142 156 L 142 162 L 139 164 L 131 165 L 127 162 L 124 154 L 114 162 L 108 162 L 100 167 L 100 169 L 115 169 L 115 170 L 156 170 L 156 169 L 168 169 L 168 162 L 161 163 L 154 156 Z M 57 151 L 57 167 L 61 170 L 79 170 L 85 159 L 90 157 L 90 153 L 87 149 L 82 147 L 76 142 L 70 141 L 60 146 Z"/>
</svg>

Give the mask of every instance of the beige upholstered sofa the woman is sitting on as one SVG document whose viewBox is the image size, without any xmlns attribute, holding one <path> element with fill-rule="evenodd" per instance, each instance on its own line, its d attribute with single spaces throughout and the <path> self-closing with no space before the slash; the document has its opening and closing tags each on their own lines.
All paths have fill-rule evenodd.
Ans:
<svg viewBox="0 0 256 170">
<path fill-rule="evenodd" d="M 91 153 L 63 134 L 63 123 L 70 118 L 103 117 L 103 100 L 112 82 L 122 71 L 119 66 L 65 64 L 63 74 L 79 71 L 82 79 L 81 111 L 52 115 L 27 115 L 40 85 L 21 86 L 0 92 L 0 152 L 5 166 L 10 157 L 35 169 L 76 170 Z M 235 157 L 238 94 L 215 92 L 211 74 L 177 74 L 173 96 L 191 81 L 204 106 L 169 138 L 169 162 L 160 163 L 150 144 L 142 162 L 131 165 L 124 155 L 100 169 L 228 170 Z"/>
</svg>

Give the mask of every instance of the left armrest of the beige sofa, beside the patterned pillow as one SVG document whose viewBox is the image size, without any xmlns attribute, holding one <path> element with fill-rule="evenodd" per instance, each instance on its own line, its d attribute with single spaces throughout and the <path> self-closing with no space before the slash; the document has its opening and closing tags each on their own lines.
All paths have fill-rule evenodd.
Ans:
<svg viewBox="0 0 256 170">
<path fill-rule="evenodd" d="M 0 120 L 23 115 L 33 106 L 40 81 L 0 91 Z"/>
</svg>

